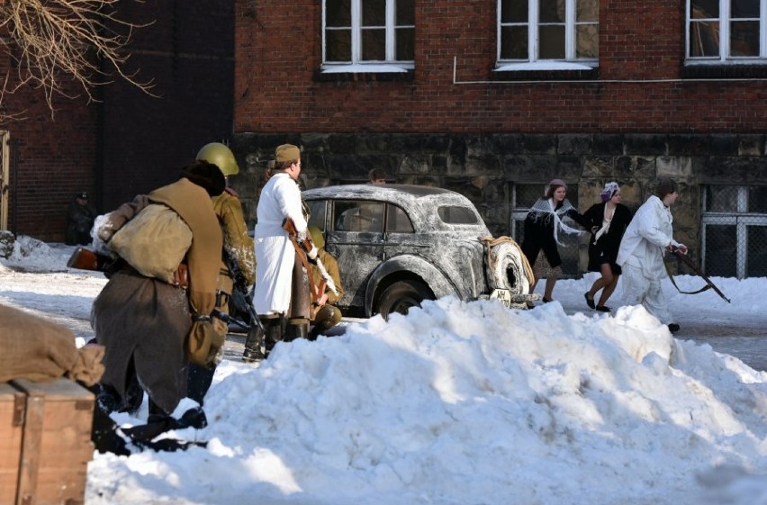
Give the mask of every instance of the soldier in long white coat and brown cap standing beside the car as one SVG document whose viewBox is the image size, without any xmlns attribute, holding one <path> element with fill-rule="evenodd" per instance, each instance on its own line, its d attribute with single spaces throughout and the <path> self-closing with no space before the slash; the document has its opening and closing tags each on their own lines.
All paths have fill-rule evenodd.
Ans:
<svg viewBox="0 0 767 505">
<path fill-rule="evenodd" d="M 275 342 L 285 337 L 292 293 L 295 293 L 293 280 L 296 270 L 301 275 L 301 267 L 295 268 L 295 248 L 288 232 L 283 228 L 286 219 L 293 220 L 299 239 L 306 236 L 307 222 L 302 208 L 301 189 L 297 182 L 300 174 L 301 151 L 291 144 L 277 147 L 272 176 L 258 199 L 254 237 L 256 289 L 253 307 L 264 326 L 267 351 Z M 314 248 L 307 255 L 312 259 L 317 257 L 317 249 Z M 307 300 L 308 296 L 307 286 Z M 308 314 L 306 318 L 308 322 Z M 260 344 L 260 338 L 248 338 L 243 359 L 252 362 L 263 358 Z"/>
</svg>

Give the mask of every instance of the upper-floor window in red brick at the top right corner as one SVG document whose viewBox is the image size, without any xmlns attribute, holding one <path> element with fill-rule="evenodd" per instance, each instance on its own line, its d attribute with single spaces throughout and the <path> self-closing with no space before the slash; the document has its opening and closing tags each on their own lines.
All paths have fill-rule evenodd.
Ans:
<svg viewBox="0 0 767 505">
<path fill-rule="evenodd" d="M 687 0 L 688 63 L 767 58 L 767 0 Z"/>
</svg>

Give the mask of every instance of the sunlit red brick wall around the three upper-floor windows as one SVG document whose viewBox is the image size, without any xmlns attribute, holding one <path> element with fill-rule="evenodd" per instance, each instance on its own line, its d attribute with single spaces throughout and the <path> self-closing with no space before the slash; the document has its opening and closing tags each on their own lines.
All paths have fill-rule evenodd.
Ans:
<svg viewBox="0 0 767 505">
<path fill-rule="evenodd" d="M 732 132 L 767 126 L 767 107 L 754 107 L 767 98 L 764 81 L 681 78 L 684 3 L 602 0 L 595 76 L 549 82 L 555 74 L 539 74 L 533 83 L 493 80 L 496 5 L 417 0 L 415 72 L 393 81 L 319 75 L 320 2 L 238 0 L 234 130 Z"/>
</svg>

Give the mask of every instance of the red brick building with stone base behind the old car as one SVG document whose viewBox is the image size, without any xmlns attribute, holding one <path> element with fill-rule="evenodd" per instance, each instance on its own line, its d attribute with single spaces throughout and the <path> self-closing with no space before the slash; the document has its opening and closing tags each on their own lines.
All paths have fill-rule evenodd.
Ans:
<svg viewBox="0 0 767 505">
<path fill-rule="evenodd" d="M 767 275 L 767 12 L 723 3 L 236 0 L 248 215 L 283 142 L 306 187 L 382 167 L 466 194 L 518 238 L 552 178 L 585 210 L 609 180 L 636 208 L 673 176 L 677 238 L 709 274 Z"/>
</svg>

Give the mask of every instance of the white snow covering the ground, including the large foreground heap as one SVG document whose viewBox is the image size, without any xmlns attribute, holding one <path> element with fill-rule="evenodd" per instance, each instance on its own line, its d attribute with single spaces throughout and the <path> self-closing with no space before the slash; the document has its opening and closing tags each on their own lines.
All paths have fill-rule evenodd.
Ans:
<svg viewBox="0 0 767 505">
<path fill-rule="evenodd" d="M 68 270 L 73 248 L 17 244 L 0 303 L 92 335 L 104 277 Z M 767 363 L 767 279 L 713 279 L 732 304 L 667 284 L 672 338 L 640 307 L 586 309 L 594 278 L 560 281 L 533 311 L 446 298 L 279 344 L 261 365 L 234 355 L 208 428 L 171 434 L 208 446 L 95 454 L 86 505 L 767 504 L 767 373 L 714 351 L 730 338 Z"/>
</svg>

